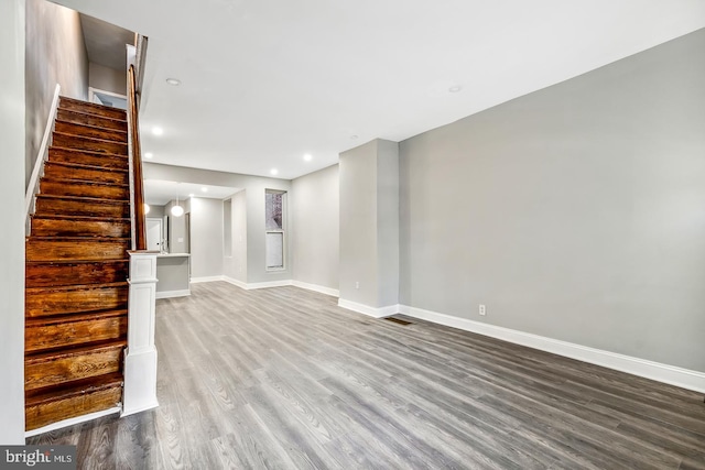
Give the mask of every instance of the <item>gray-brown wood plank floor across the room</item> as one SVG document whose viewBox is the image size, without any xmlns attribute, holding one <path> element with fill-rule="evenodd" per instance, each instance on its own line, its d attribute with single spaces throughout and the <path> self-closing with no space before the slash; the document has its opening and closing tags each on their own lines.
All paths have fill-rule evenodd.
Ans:
<svg viewBox="0 0 705 470">
<path fill-rule="evenodd" d="M 701 394 L 296 287 L 158 300 L 161 406 L 47 433 L 79 468 L 705 469 Z"/>
</svg>

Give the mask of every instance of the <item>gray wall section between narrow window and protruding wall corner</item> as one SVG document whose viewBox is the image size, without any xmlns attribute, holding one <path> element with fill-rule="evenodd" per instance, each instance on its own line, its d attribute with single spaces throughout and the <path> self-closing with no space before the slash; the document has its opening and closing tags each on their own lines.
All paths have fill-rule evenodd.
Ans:
<svg viewBox="0 0 705 470">
<path fill-rule="evenodd" d="M 295 281 L 338 288 L 338 165 L 292 181 L 292 258 Z"/>
</svg>

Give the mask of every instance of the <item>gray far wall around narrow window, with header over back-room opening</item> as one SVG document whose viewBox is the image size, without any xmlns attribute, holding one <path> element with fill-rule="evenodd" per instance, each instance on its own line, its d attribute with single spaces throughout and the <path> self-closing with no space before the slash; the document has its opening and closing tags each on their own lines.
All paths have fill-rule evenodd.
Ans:
<svg viewBox="0 0 705 470">
<path fill-rule="evenodd" d="M 264 178 L 240 175 L 236 173 L 213 172 L 184 166 L 144 163 L 144 177 L 173 182 L 197 183 L 215 186 L 230 186 L 247 192 L 247 282 L 275 282 L 292 278 L 291 272 L 291 237 L 288 237 L 286 269 L 268 272 L 264 261 L 264 192 L 267 189 L 291 190 L 291 182 L 286 179 Z M 220 217 L 221 219 L 221 217 Z M 194 247 L 192 243 L 192 251 Z"/>
</svg>

